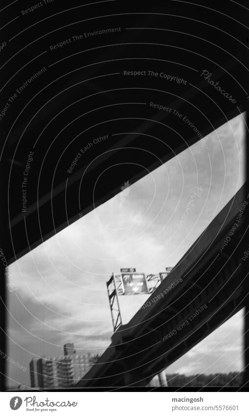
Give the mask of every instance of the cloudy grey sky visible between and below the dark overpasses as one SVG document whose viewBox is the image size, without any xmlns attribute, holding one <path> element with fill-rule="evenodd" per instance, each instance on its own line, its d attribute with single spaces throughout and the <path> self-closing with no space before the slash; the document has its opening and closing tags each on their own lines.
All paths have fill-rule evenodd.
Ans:
<svg viewBox="0 0 249 416">
<path fill-rule="evenodd" d="M 158 273 L 174 266 L 242 186 L 243 117 L 208 135 L 205 143 L 196 143 L 9 267 L 14 290 L 7 291 L 7 354 L 27 367 L 8 364 L 9 386 L 29 386 L 30 360 L 61 355 L 68 341 L 79 353 L 103 352 L 112 335 L 106 291 L 111 273 L 123 267 Z M 200 196 L 180 229 L 196 187 Z M 120 298 L 124 323 L 147 297 Z M 242 314 L 167 371 L 241 370 Z"/>
</svg>

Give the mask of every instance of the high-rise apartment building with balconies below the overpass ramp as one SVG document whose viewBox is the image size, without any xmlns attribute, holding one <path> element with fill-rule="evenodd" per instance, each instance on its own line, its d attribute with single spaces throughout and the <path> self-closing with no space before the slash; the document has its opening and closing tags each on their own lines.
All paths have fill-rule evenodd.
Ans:
<svg viewBox="0 0 249 416">
<path fill-rule="evenodd" d="M 97 356 L 76 354 L 73 343 L 64 345 L 64 355 L 33 359 L 30 364 L 31 387 L 69 387 L 90 370 Z"/>
</svg>

